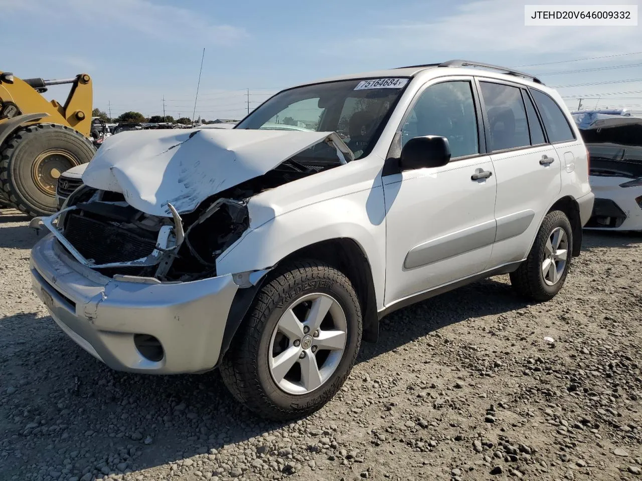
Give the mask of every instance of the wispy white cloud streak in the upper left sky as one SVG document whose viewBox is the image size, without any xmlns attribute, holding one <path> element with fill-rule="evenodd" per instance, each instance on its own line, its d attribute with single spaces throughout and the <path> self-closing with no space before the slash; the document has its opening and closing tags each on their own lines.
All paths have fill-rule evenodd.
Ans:
<svg viewBox="0 0 642 481">
<path fill-rule="evenodd" d="M 248 37 L 245 28 L 214 23 L 205 15 L 186 8 L 155 4 L 150 0 L 0 0 L 0 11 L 3 16 L 10 12 L 27 12 L 32 18 L 40 15 L 58 19 L 63 21 L 65 28 L 76 26 L 80 31 L 91 25 L 108 28 L 115 34 L 124 29 L 164 42 L 227 45 Z"/>
</svg>

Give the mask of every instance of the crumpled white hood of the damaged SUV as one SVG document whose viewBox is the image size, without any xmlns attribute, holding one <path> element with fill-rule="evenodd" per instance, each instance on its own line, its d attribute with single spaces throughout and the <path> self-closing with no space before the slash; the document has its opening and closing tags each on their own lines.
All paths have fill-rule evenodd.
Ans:
<svg viewBox="0 0 642 481">
<path fill-rule="evenodd" d="M 94 189 L 121 192 L 143 212 L 193 211 L 209 196 L 261 176 L 284 160 L 331 140 L 334 132 L 278 130 L 146 130 L 108 137 L 82 174 Z"/>
</svg>

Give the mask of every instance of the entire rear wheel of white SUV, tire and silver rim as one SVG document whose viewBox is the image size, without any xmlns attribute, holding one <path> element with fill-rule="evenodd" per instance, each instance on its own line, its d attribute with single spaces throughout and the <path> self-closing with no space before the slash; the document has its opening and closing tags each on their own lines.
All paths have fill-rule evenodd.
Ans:
<svg viewBox="0 0 642 481">
<path fill-rule="evenodd" d="M 562 289 L 573 252 L 573 230 L 561 210 L 546 214 L 533 247 L 519 268 L 510 273 L 512 286 L 521 296 L 548 301 Z"/>
</svg>

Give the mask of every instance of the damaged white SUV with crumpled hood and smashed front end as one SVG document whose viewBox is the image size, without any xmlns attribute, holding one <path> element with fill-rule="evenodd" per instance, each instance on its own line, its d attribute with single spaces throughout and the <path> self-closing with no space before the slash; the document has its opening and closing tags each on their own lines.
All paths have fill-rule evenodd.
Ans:
<svg viewBox="0 0 642 481">
<path fill-rule="evenodd" d="M 563 105 L 451 61 L 283 90 L 232 130 L 114 135 L 40 219 L 33 288 L 114 369 L 218 366 L 262 416 L 308 414 L 392 310 L 500 273 L 555 296 L 593 207 Z"/>
</svg>

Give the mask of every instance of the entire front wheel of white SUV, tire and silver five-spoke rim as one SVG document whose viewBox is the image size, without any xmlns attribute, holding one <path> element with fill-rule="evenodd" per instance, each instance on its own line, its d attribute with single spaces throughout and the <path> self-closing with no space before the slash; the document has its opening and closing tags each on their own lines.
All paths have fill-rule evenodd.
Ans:
<svg viewBox="0 0 642 481">
<path fill-rule="evenodd" d="M 343 273 L 322 262 L 294 262 L 259 291 L 221 361 L 223 382 L 260 416 L 306 416 L 343 385 L 361 325 L 360 303 Z"/>
</svg>

